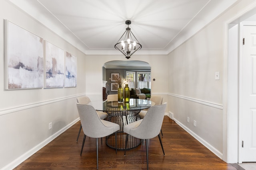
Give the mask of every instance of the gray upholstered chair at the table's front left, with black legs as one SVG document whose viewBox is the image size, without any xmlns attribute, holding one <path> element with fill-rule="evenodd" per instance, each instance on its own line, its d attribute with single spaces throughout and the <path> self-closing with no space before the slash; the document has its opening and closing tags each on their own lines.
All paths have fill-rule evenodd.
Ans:
<svg viewBox="0 0 256 170">
<path fill-rule="evenodd" d="M 90 105 L 76 104 L 82 128 L 84 131 L 84 139 L 80 155 L 84 148 L 84 141 L 86 136 L 96 138 L 96 152 L 97 152 L 97 169 L 98 169 L 98 138 L 106 137 L 120 130 L 120 126 L 110 121 L 101 120 L 94 107 Z M 115 138 L 116 139 L 116 138 Z M 117 144 L 117 143 L 116 143 Z M 117 146 L 116 146 L 117 152 Z"/>
</svg>

